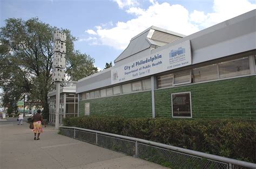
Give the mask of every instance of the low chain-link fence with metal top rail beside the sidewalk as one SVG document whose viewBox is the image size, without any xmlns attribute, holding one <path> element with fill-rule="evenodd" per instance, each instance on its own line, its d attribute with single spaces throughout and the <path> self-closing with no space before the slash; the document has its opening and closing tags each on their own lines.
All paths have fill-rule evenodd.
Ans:
<svg viewBox="0 0 256 169">
<path fill-rule="evenodd" d="M 256 164 L 149 140 L 60 126 L 62 135 L 172 168 L 256 168 Z"/>
</svg>

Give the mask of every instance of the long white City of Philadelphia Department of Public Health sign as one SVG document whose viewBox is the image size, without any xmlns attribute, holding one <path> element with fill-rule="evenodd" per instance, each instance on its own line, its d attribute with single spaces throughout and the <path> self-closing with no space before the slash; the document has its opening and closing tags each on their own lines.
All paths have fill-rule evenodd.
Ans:
<svg viewBox="0 0 256 169">
<path fill-rule="evenodd" d="M 191 65 L 190 40 L 111 70 L 111 84 Z"/>
</svg>

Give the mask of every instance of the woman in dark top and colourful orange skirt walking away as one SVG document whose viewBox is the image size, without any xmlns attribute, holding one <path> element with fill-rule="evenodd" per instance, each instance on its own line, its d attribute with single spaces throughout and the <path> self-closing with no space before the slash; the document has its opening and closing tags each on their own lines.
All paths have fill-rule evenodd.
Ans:
<svg viewBox="0 0 256 169">
<path fill-rule="evenodd" d="M 34 140 L 38 140 L 40 133 L 43 132 L 42 123 L 44 123 L 43 116 L 41 115 L 40 109 L 38 109 L 37 113 L 33 115 L 32 121 L 33 121 L 33 127 L 34 127 L 33 132 L 35 134 Z M 45 123 L 44 123 L 44 127 L 46 128 Z M 37 133 L 37 137 L 36 137 L 36 133 Z"/>
</svg>

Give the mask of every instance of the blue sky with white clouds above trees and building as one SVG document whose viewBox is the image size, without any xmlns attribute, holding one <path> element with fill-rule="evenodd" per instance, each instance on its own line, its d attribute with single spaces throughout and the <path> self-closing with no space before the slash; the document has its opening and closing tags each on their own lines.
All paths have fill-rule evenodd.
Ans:
<svg viewBox="0 0 256 169">
<path fill-rule="evenodd" d="M 256 9 L 255 0 L 0 0 L 5 19 L 38 17 L 71 30 L 75 49 L 105 67 L 150 26 L 189 35 Z"/>
</svg>

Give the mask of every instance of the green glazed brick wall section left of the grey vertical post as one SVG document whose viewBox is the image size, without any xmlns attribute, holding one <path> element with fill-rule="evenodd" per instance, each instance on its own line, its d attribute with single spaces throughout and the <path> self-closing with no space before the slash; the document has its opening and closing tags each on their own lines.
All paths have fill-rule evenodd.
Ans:
<svg viewBox="0 0 256 169">
<path fill-rule="evenodd" d="M 90 103 L 90 115 L 152 117 L 151 91 L 80 101 L 79 116 L 84 116 L 84 103 Z"/>
</svg>

